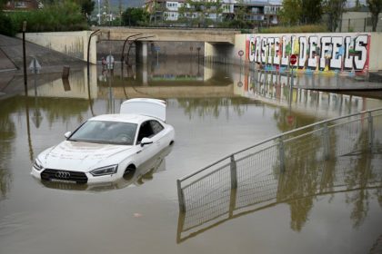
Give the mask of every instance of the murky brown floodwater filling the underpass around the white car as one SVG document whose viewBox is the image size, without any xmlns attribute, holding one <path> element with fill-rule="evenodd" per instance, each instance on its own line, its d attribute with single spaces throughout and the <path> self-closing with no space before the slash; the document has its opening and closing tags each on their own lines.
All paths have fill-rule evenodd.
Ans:
<svg viewBox="0 0 382 254">
<path fill-rule="evenodd" d="M 116 66 L 114 73 L 98 66 L 89 79 L 84 70 L 68 82 L 37 77 L 28 96 L 1 100 L 0 253 L 381 253 L 378 153 L 337 161 L 347 170 L 342 188 L 311 191 L 317 178 L 292 175 L 272 187 L 282 201 L 186 231 L 192 214 L 179 213 L 176 179 L 280 132 L 382 107 L 377 99 L 254 83 L 251 72 L 197 61 L 158 60 L 122 72 Z M 171 148 L 116 184 L 32 178 L 39 152 L 133 97 L 166 100 L 167 122 L 176 130 Z M 320 178 L 326 186 L 337 183 Z M 199 217 L 212 216 L 204 212 Z"/>
</svg>

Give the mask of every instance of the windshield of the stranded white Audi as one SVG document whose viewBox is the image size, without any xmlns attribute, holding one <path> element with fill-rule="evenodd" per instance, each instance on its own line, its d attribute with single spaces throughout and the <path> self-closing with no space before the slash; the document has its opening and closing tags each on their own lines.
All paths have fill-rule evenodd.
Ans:
<svg viewBox="0 0 382 254">
<path fill-rule="evenodd" d="M 136 137 L 136 126 L 136 123 L 129 122 L 87 121 L 68 140 L 132 145 Z"/>
</svg>

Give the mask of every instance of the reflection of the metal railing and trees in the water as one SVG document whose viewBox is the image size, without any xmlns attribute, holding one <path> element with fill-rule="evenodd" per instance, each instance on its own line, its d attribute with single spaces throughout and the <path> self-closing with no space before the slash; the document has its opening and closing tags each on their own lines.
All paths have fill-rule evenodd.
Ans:
<svg viewBox="0 0 382 254">
<path fill-rule="evenodd" d="M 306 163 L 309 162 L 309 163 Z M 253 171 L 251 167 L 244 171 Z M 242 172 L 243 173 L 243 172 Z M 303 180 L 303 181 L 302 181 Z M 219 184 L 219 190 L 204 190 L 203 198 L 190 200 L 191 210 L 179 212 L 176 241 L 178 243 L 215 228 L 227 220 L 248 213 L 266 210 L 286 203 L 290 210 L 290 228 L 301 231 L 309 220 L 319 196 L 345 192 L 353 228 L 367 218 L 368 203 L 377 199 L 382 208 L 382 156 L 361 153 L 332 161 L 310 163 L 300 159 L 294 167 L 274 177 L 257 174 L 237 189 Z M 331 200 L 335 206 L 341 200 Z"/>
</svg>

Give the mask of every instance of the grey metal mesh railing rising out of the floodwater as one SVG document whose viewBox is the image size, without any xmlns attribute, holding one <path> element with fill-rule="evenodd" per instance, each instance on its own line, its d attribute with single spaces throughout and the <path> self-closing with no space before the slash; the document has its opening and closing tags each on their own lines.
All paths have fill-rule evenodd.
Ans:
<svg viewBox="0 0 382 254">
<path fill-rule="evenodd" d="M 240 207 L 248 199 L 272 199 L 280 179 L 296 167 L 314 167 L 340 156 L 381 148 L 382 108 L 309 124 L 236 151 L 177 180 L 179 210 L 190 215 L 212 209 L 208 216 L 215 218 L 223 212 L 219 207 L 226 212 L 226 207 Z M 251 194 L 232 197 L 231 190 L 245 193 L 249 186 Z M 253 192 L 253 188 L 261 191 Z"/>
</svg>

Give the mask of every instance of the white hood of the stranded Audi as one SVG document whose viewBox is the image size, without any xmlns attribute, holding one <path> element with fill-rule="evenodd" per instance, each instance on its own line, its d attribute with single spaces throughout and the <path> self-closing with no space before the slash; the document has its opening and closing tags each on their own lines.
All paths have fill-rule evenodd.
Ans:
<svg viewBox="0 0 382 254">
<path fill-rule="evenodd" d="M 107 163 L 107 160 L 128 150 L 131 150 L 131 146 L 65 141 L 50 151 L 46 151 L 39 159 L 48 169 L 89 171 L 94 168 L 117 164 L 119 160 L 110 161 L 110 163 Z M 128 154 L 125 153 L 124 155 L 126 157 Z"/>
</svg>

